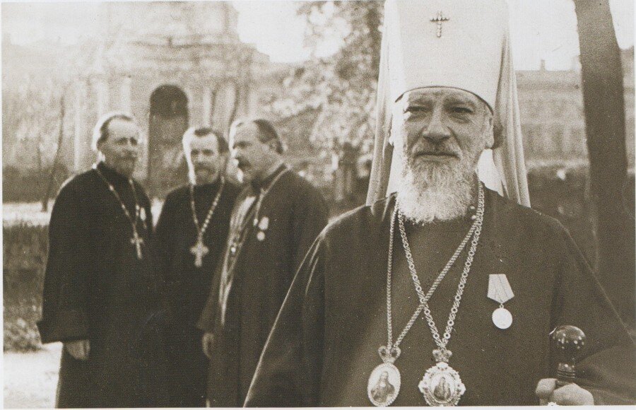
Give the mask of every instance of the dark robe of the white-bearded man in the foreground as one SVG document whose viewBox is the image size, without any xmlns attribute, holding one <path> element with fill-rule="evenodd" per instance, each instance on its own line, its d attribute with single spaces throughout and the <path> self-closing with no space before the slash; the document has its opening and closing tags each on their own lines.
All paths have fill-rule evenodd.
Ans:
<svg viewBox="0 0 636 410">
<path fill-rule="evenodd" d="M 367 382 L 387 344 L 387 258 L 395 197 L 331 223 L 295 277 L 247 396 L 247 406 L 370 406 Z M 469 229 L 466 217 L 428 228 L 407 225 L 424 291 Z M 396 227 L 393 340 L 418 298 Z M 469 244 L 470 245 L 470 244 Z M 443 335 L 466 250 L 429 301 Z M 499 304 L 488 298 L 490 274 L 505 274 L 514 297 L 508 329 L 495 327 Z M 558 221 L 486 192 L 485 217 L 452 337 L 449 365 L 466 386 L 459 405 L 538 404 L 538 380 L 554 377 L 548 334 L 572 324 L 587 334 L 578 382 L 596 403 L 634 399 L 634 346 L 575 243 Z M 418 383 L 435 365 L 423 315 L 395 362 L 401 389 L 394 406 L 425 405 Z"/>
</svg>

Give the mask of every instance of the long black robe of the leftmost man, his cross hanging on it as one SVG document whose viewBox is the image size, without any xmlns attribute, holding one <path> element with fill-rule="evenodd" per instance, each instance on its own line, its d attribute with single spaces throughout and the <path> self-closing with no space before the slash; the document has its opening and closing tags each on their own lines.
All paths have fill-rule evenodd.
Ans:
<svg viewBox="0 0 636 410">
<path fill-rule="evenodd" d="M 98 169 L 134 218 L 126 177 L 103 163 Z M 62 352 L 57 407 L 163 404 L 153 390 L 161 346 L 148 252 L 151 207 L 143 188 L 136 182 L 134 187 L 141 206 L 136 225 L 144 240 L 141 260 L 131 243 L 132 224 L 96 170 L 66 182 L 55 200 L 38 328 L 43 343 L 90 341 L 87 361 Z"/>
</svg>

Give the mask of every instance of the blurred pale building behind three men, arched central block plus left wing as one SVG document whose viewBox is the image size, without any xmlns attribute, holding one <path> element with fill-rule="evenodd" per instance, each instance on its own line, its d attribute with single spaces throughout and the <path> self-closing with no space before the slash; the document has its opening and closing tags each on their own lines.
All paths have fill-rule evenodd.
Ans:
<svg viewBox="0 0 636 410">
<path fill-rule="evenodd" d="M 5 36 L 3 94 L 25 82 L 35 83 L 34 93 L 47 86 L 58 97 L 64 93 L 60 158 L 69 172 L 85 170 L 95 160 L 90 134 L 100 115 L 131 112 L 148 137 L 136 177 L 153 196 L 163 197 L 186 182 L 181 137 L 187 127 L 223 132 L 236 117 L 254 115 L 259 95 L 279 86 L 284 67 L 240 42 L 237 11 L 228 2 L 113 2 L 100 8 L 98 42 L 73 49 L 49 42 L 23 47 Z M 47 81 L 58 83 L 40 85 Z M 34 108 L 59 119 L 59 101 L 50 97 Z M 5 167 L 26 171 L 52 160 L 51 150 L 40 144 L 47 143 L 34 141 L 34 127 L 4 131 Z M 40 140 L 57 141 L 54 127 L 48 131 Z"/>
</svg>

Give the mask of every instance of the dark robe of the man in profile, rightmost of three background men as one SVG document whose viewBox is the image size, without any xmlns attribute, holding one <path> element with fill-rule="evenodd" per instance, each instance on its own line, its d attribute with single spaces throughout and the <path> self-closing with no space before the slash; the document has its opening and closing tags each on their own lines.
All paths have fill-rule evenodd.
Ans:
<svg viewBox="0 0 636 410">
<path fill-rule="evenodd" d="M 251 221 L 245 227 L 242 248 L 232 269 L 225 319 L 219 317 L 223 268 L 219 264 L 199 320 L 201 329 L 215 335 L 208 382 L 211 406 L 242 406 L 295 271 L 327 223 L 326 204 L 318 190 L 294 172 L 284 172 L 262 199 L 260 227 Z M 248 186 L 236 206 L 251 192 Z M 263 218 L 269 220 L 265 225 L 261 223 Z"/>
</svg>

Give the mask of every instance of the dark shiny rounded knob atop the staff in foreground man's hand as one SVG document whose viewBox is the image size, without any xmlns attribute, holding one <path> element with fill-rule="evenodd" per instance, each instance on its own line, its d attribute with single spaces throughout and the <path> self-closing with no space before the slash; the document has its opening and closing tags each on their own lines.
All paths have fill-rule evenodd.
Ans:
<svg viewBox="0 0 636 410">
<path fill-rule="evenodd" d="M 557 365 L 557 385 L 565 386 L 574 382 L 576 372 L 576 358 L 585 346 L 585 334 L 576 326 L 565 324 L 556 327 L 550 335 L 555 344 L 559 358 Z"/>
</svg>

